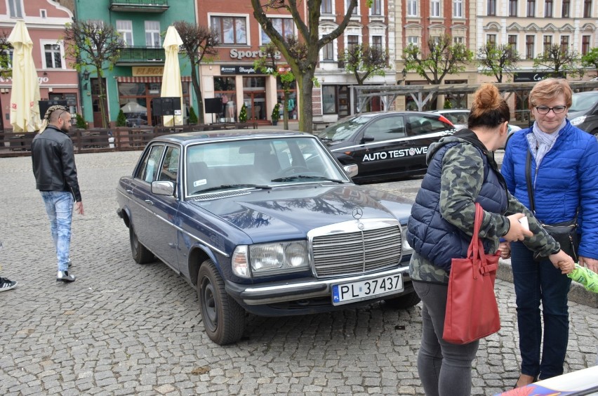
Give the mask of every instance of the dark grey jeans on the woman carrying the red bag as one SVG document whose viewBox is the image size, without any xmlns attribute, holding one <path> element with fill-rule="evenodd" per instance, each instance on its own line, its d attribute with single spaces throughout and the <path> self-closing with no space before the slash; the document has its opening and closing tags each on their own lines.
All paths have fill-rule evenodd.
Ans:
<svg viewBox="0 0 598 396">
<path fill-rule="evenodd" d="M 418 374 L 426 396 L 471 395 L 472 362 L 479 341 L 457 345 L 442 339 L 449 285 L 413 282 L 413 288 L 423 303 Z"/>
</svg>

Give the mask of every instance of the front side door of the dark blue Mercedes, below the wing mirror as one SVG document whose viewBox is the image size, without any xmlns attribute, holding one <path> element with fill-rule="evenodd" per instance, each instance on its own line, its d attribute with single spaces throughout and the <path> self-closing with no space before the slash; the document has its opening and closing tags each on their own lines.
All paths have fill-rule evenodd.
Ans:
<svg viewBox="0 0 598 396">
<path fill-rule="evenodd" d="M 166 145 L 157 172 L 156 181 L 174 183 L 174 195 L 154 194 L 150 191 L 146 204 L 152 211 L 148 221 L 148 234 L 150 237 L 150 248 L 156 256 L 164 263 L 171 266 L 178 272 L 177 263 L 177 228 L 175 219 L 177 217 L 180 202 L 179 183 L 180 169 L 180 147 Z"/>
</svg>

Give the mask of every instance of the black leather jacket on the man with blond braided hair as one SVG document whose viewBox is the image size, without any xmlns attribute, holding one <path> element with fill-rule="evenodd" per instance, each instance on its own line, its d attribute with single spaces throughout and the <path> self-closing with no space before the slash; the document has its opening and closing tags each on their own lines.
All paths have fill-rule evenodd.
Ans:
<svg viewBox="0 0 598 396">
<path fill-rule="evenodd" d="M 37 190 L 69 191 L 81 201 L 73 143 L 66 133 L 48 125 L 33 138 L 31 154 Z"/>
</svg>

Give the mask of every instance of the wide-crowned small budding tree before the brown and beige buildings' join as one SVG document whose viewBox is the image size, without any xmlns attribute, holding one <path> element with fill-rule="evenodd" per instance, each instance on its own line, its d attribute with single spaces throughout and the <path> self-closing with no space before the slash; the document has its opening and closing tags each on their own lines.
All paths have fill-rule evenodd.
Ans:
<svg viewBox="0 0 598 396">
<path fill-rule="evenodd" d="M 446 74 L 464 72 L 473 55 L 465 45 L 453 44 L 453 38 L 447 34 L 430 37 L 425 49 L 410 44 L 403 50 L 406 70 L 415 70 L 433 85 L 441 84 Z"/>
</svg>

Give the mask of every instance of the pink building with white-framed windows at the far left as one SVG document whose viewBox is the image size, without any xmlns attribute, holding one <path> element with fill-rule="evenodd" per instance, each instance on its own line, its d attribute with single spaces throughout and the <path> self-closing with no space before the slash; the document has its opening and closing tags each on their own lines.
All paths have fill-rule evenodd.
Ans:
<svg viewBox="0 0 598 396">
<path fill-rule="evenodd" d="M 56 1 L 0 1 L 0 34 L 11 34 L 18 19 L 25 21 L 33 41 L 33 58 L 39 78 L 41 100 L 67 100 L 70 112 L 79 112 L 79 78 L 65 59 L 62 36 L 65 24 L 73 13 Z M 0 77 L 0 106 L 4 128 L 11 128 L 8 105 L 11 99 L 11 78 Z"/>
</svg>

